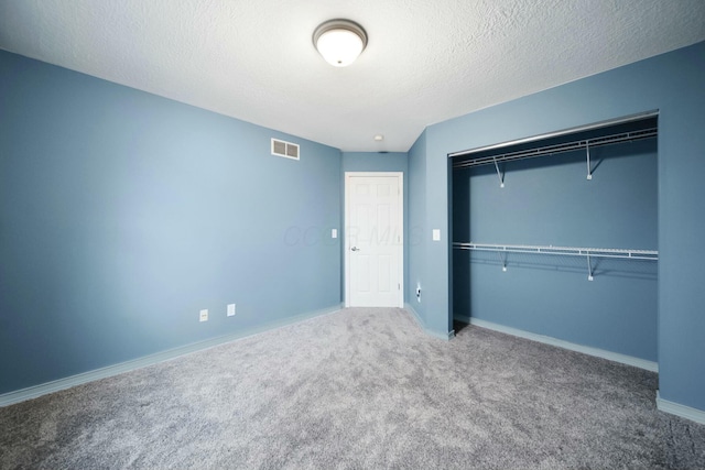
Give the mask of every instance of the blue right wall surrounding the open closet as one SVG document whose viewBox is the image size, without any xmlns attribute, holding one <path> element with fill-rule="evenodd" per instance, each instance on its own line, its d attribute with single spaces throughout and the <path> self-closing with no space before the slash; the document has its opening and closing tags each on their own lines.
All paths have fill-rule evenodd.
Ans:
<svg viewBox="0 0 705 470">
<path fill-rule="evenodd" d="M 448 153 L 659 109 L 659 384 L 662 398 L 699 409 L 705 409 L 703 57 L 705 43 L 698 43 L 432 125 L 425 170 L 410 164 L 410 178 L 425 179 L 429 220 L 449 227 Z M 425 173 L 414 174 L 416 168 Z M 421 276 L 426 289 L 434 289 L 426 296 L 427 321 L 446 330 L 452 327 L 449 241 L 446 236 L 430 244 L 431 262 Z"/>
</svg>

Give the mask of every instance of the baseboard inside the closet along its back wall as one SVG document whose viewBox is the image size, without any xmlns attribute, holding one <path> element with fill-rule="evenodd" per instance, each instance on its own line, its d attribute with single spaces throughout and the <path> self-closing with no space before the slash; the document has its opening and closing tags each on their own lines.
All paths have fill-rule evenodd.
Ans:
<svg viewBox="0 0 705 470">
<path fill-rule="evenodd" d="M 507 335 L 518 336 L 520 338 L 543 342 L 545 345 L 568 349 L 571 351 L 577 351 L 584 354 L 608 359 L 610 361 L 619 362 L 627 365 L 632 365 L 634 368 L 644 369 L 651 372 L 659 372 L 659 364 L 653 361 L 647 361 L 646 359 L 634 358 L 632 356 L 627 356 L 627 354 L 620 354 L 619 352 L 606 351 L 604 349 L 593 348 L 589 346 L 576 345 L 574 342 L 564 341 L 562 339 L 552 338 L 550 336 L 536 335 L 534 332 L 529 332 L 529 331 L 520 330 L 512 327 L 506 327 L 503 325 L 498 325 L 491 321 L 481 320 L 479 318 L 466 317 L 462 315 L 456 315 L 455 318 L 466 324 L 476 325 L 478 327 L 491 329 L 491 330 L 503 332 Z"/>
</svg>

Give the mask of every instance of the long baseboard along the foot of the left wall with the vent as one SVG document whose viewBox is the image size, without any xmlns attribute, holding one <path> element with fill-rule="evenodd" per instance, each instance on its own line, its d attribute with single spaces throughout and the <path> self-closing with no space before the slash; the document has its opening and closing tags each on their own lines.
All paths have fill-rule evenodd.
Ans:
<svg viewBox="0 0 705 470">
<path fill-rule="evenodd" d="M 247 338 L 247 337 L 258 335 L 260 332 L 264 332 L 268 330 L 281 328 L 286 325 L 305 321 L 310 318 L 333 314 L 333 313 L 339 311 L 341 308 L 343 308 L 341 304 L 335 305 L 333 307 L 328 307 L 322 310 L 310 311 L 306 314 L 301 314 L 293 317 L 284 318 L 281 320 L 270 321 L 264 325 L 253 327 L 253 328 L 248 328 L 242 331 L 219 336 L 217 338 L 195 342 L 192 345 L 186 345 L 180 348 L 170 349 L 170 350 L 158 352 L 150 356 L 144 356 L 142 358 L 121 362 L 119 364 L 108 365 L 106 368 L 96 369 L 96 370 L 84 372 L 80 374 L 67 376 L 64 379 L 58 379 L 52 382 L 42 383 L 40 385 L 30 386 L 26 389 L 14 391 L 14 392 L 3 393 L 2 395 L 0 395 L 0 407 L 24 402 L 26 400 L 37 398 L 48 393 L 58 392 L 61 390 L 70 389 L 72 386 L 80 385 L 87 382 L 93 382 L 93 381 L 109 378 L 112 375 L 118 375 L 124 372 L 130 372 L 148 365 L 169 361 L 171 359 L 175 359 L 181 356 L 189 354 L 196 351 L 202 351 L 204 349 L 213 348 L 219 345 L 224 345 L 226 342 Z"/>
</svg>

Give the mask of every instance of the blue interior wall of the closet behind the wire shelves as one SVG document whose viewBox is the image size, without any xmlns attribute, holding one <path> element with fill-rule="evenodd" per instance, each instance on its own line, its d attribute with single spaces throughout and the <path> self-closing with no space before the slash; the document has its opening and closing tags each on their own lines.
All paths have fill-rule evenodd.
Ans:
<svg viewBox="0 0 705 470">
<path fill-rule="evenodd" d="M 657 140 L 455 170 L 454 241 L 657 250 Z M 650 261 L 454 250 L 453 308 L 574 343 L 657 361 Z"/>
</svg>

